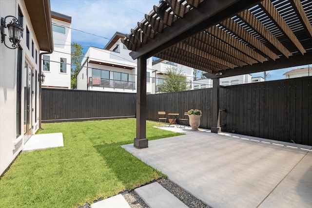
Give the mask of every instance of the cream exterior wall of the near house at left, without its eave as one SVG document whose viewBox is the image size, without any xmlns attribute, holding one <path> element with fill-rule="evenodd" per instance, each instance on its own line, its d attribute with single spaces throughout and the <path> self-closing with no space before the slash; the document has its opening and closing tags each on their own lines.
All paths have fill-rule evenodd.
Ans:
<svg viewBox="0 0 312 208">
<path fill-rule="evenodd" d="M 0 0 L 0 16 L 9 15 L 18 18 L 18 11 L 23 15 L 23 38 L 20 42 L 21 47 L 21 79 L 18 75 L 18 49 L 9 49 L 3 43 L 0 43 L 0 175 L 8 168 L 14 158 L 23 149 L 28 134 L 24 135 L 24 119 L 26 118 L 27 104 L 24 102 L 27 96 L 27 87 L 30 87 L 30 134 L 34 134 L 39 128 L 39 44 L 33 30 L 31 20 L 27 13 L 23 0 Z M 7 19 L 9 23 L 11 19 Z M 26 27 L 29 31 L 29 49 L 26 46 Z M 5 42 L 10 45 L 8 40 L 8 31 L 5 29 Z M 34 44 L 32 44 L 32 42 Z M 33 46 L 32 46 L 33 45 Z M 32 48 L 34 50 L 32 50 Z M 32 53 L 33 51 L 33 53 Z M 37 52 L 37 53 L 36 53 Z M 30 76 L 25 68 L 25 61 L 29 63 L 32 69 Z M 17 83 L 19 82 L 19 83 Z M 21 84 L 20 93 L 17 93 L 18 86 Z M 20 95 L 20 111 L 17 114 L 17 95 Z M 26 96 L 26 97 L 25 97 Z M 20 119 L 18 118 L 20 115 Z M 25 116 L 26 115 L 26 116 Z M 17 126 L 20 125 L 20 131 Z"/>
</svg>

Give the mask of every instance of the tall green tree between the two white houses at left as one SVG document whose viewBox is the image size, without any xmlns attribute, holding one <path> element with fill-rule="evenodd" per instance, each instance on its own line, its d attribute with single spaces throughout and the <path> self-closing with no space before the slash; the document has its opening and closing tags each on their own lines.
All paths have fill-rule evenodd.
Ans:
<svg viewBox="0 0 312 208">
<path fill-rule="evenodd" d="M 82 46 L 78 44 L 77 42 L 72 43 L 71 48 L 71 89 L 77 89 L 77 76 L 81 69 L 81 60 L 84 56 L 84 53 L 82 52 Z"/>
</svg>

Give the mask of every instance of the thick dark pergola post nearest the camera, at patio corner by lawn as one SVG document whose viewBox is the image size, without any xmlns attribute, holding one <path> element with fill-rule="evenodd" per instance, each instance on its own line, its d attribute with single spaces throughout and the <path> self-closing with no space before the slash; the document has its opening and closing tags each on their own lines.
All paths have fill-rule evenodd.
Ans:
<svg viewBox="0 0 312 208">
<path fill-rule="evenodd" d="M 148 148 L 146 138 L 146 57 L 137 58 L 137 134 L 134 146 Z"/>
</svg>

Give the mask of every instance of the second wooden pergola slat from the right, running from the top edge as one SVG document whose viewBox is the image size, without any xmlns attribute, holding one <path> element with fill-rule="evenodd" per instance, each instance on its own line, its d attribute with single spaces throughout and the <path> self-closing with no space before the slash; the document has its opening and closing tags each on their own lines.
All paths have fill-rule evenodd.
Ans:
<svg viewBox="0 0 312 208">
<path fill-rule="evenodd" d="M 266 10 L 267 15 L 275 22 L 276 26 L 283 31 L 283 33 L 292 41 L 292 43 L 297 47 L 301 54 L 306 53 L 306 50 L 301 45 L 298 38 L 293 34 L 291 28 L 287 25 L 282 16 L 275 9 L 270 0 L 263 0 L 260 3 L 261 7 Z"/>
</svg>

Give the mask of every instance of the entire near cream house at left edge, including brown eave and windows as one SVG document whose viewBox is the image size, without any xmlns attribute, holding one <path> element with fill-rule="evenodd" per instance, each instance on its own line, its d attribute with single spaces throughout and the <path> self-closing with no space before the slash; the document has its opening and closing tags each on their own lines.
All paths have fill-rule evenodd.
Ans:
<svg viewBox="0 0 312 208">
<path fill-rule="evenodd" d="M 0 0 L 0 16 L 15 16 L 24 29 L 17 49 L 0 43 L 1 175 L 39 129 L 39 51 L 53 51 L 53 37 L 50 0 Z"/>
</svg>

